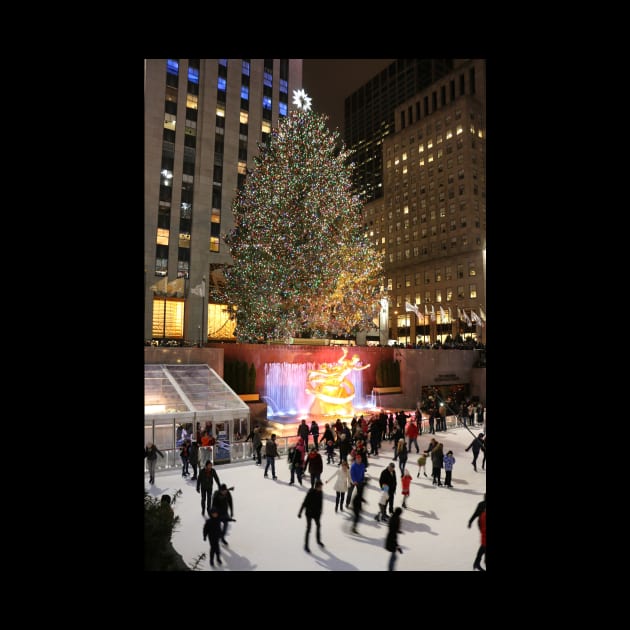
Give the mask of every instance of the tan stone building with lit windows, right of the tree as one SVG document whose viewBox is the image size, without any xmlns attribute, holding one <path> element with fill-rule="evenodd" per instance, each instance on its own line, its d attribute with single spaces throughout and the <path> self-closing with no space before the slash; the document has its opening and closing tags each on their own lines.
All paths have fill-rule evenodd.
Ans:
<svg viewBox="0 0 630 630">
<path fill-rule="evenodd" d="M 486 341 L 485 68 L 454 60 L 395 108 L 382 141 L 383 195 L 364 220 L 385 254 L 389 336 L 401 343 Z"/>
</svg>

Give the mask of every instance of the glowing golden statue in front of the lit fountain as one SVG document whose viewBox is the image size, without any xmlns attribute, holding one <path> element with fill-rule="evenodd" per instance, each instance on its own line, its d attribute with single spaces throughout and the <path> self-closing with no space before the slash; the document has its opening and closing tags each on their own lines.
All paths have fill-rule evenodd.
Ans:
<svg viewBox="0 0 630 630">
<path fill-rule="evenodd" d="M 370 364 L 360 365 L 359 355 L 347 359 L 348 349 L 342 348 L 343 356 L 337 363 L 322 363 L 316 370 L 309 370 L 306 393 L 315 396 L 309 411 L 312 415 L 350 416 L 352 415 L 352 399 L 354 385 L 348 374 L 365 370 Z"/>
</svg>

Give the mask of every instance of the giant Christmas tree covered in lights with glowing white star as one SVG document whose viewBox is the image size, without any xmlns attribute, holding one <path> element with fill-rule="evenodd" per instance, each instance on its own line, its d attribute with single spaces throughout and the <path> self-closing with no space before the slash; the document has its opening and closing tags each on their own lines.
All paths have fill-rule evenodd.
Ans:
<svg viewBox="0 0 630 630">
<path fill-rule="evenodd" d="M 259 145 L 225 237 L 234 265 L 224 299 L 237 307 L 241 342 L 347 335 L 378 313 L 382 255 L 351 190 L 350 151 L 303 90 L 294 103 Z"/>
</svg>

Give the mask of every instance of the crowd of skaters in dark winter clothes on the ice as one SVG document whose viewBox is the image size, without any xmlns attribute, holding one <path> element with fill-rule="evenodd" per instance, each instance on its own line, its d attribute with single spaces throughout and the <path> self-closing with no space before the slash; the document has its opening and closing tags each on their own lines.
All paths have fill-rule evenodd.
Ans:
<svg viewBox="0 0 630 630">
<path fill-rule="evenodd" d="M 470 413 L 470 410 L 467 409 Z M 470 418 L 470 416 L 468 416 Z M 431 423 L 429 424 L 431 426 Z M 435 423 L 434 425 L 435 426 Z M 439 429 L 437 429 L 439 431 Z M 381 410 L 369 418 L 363 415 L 354 417 L 348 423 L 337 419 L 334 423 L 326 423 L 323 431 L 315 420 L 310 425 L 306 420 L 302 420 L 297 429 L 297 443 L 287 451 L 287 463 L 290 470 L 289 485 L 296 482 L 303 485 L 305 477 L 308 475 L 310 489 L 300 505 L 298 517 L 302 513 L 306 515 L 306 532 L 304 539 L 304 550 L 310 553 L 309 537 L 313 522 L 315 523 L 316 541 L 320 546 L 324 546 L 321 536 L 321 515 L 322 515 L 322 489 L 324 484 L 334 481 L 335 492 L 335 512 L 348 510 L 351 512 L 352 524 L 351 532 L 359 534 L 358 526 L 361 520 L 363 506 L 366 503 L 364 489 L 368 484 L 370 457 L 379 456 L 383 449 L 391 448 L 391 461 L 380 473 L 378 486 L 380 489 L 378 508 L 374 515 L 377 522 L 387 525 L 388 531 L 385 538 L 385 549 L 391 554 L 388 562 L 388 569 L 393 571 L 397 559 L 397 554 L 402 553 L 398 545 L 398 534 L 404 532 L 403 510 L 408 508 L 408 501 L 411 494 L 411 482 L 413 476 L 409 470 L 409 454 L 414 452 L 417 456 L 416 463 L 418 470 L 416 478 L 422 473 L 428 477 L 426 464 L 430 460 L 432 465 L 431 477 L 432 485 L 438 487 L 452 488 L 452 471 L 456 460 L 453 451 L 449 450 L 444 454 L 444 445 L 438 441 L 435 431 L 430 431 L 432 437 L 425 448 L 418 444 L 418 438 L 422 435 L 422 414 L 417 411 L 415 414 L 399 411 L 396 414 L 387 414 Z M 248 436 L 252 440 L 253 461 L 255 465 L 262 464 L 262 431 L 260 427 L 254 427 Z M 180 447 L 182 458 L 182 476 L 189 478 L 189 466 L 192 467 L 193 476 L 191 481 L 196 481 L 196 489 L 200 494 L 201 513 L 208 516 L 204 523 L 202 535 L 203 540 L 208 540 L 210 544 L 210 565 L 215 566 L 215 561 L 219 565 L 221 561 L 220 544 L 227 545 L 228 523 L 234 520 L 234 503 L 230 489 L 225 483 L 221 483 L 219 475 L 210 459 L 200 461 L 200 450 L 209 445 L 211 435 L 207 435 L 201 430 L 199 435 L 190 438 L 183 436 Z M 200 441 L 201 446 L 197 441 Z M 204 441 L 205 440 L 205 441 Z M 309 448 L 309 442 L 311 446 Z M 389 442 L 389 445 L 387 443 Z M 264 476 L 268 477 L 271 469 L 273 479 L 277 479 L 276 460 L 279 458 L 276 436 L 271 435 L 266 440 L 265 458 L 266 466 Z M 477 472 L 477 461 L 480 454 L 483 454 L 482 469 L 485 469 L 486 447 L 485 435 L 473 434 L 473 439 L 465 451 L 472 450 L 472 466 Z M 324 462 L 321 455 L 323 451 L 327 457 L 327 465 L 336 465 L 335 472 L 326 480 L 322 479 Z M 163 454 L 154 444 L 147 444 L 145 457 L 149 464 L 149 483 L 154 483 L 155 461 Z M 197 468 L 199 466 L 199 473 Z M 400 496 L 402 503 L 395 506 L 398 480 L 396 469 L 400 472 Z M 445 478 L 442 480 L 442 469 L 445 471 Z M 444 481 L 444 482 L 442 482 Z M 481 565 L 482 559 L 485 564 L 485 496 L 475 510 L 469 521 L 469 527 L 474 520 L 478 521 L 481 533 L 481 545 L 474 560 L 473 568 L 484 571 Z"/>
</svg>

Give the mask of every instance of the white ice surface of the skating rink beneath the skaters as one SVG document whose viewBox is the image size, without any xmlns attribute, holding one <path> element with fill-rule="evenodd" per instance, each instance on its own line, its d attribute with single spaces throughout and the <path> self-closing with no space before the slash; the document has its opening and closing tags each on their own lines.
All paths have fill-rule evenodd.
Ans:
<svg viewBox="0 0 630 630">
<path fill-rule="evenodd" d="M 481 427 L 471 428 L 476 436 Z M 432 436 L 423 433 L 418 437 L 420 449 L 425 449 Z M 453 488 L 437 487 L 431 483 L 431 461 L 427 458 L 427 475 L 416 477 L 418 456 L 411 447 L 407 468 L 413 476 L 409 506 L 402 513 L 402 531 L 398 540 L 403 549 L 398 556 L 396 571 L 472 571 L 480 544 L 477 523 L 468 529 L 468 519 L 486 491 L 486 471 L 482 470 L 483 453 L 477 461 L 478 472 L 472 467 L 472 449 L 464 449 L 472 442 L 473 435 L 463 427 L 435 434 L 444 445 L 444 453 L 453 451 L 456 459 L 453 468 Z M 309 442 L 311 444 L 311 442 Z M 195 490 L 196 482 L 185 481 L 181 470 L 157 473 L 155 485 L 149 486 L 145 474 L 145 487 L 153 496 L 164 493 L 173 495 L 178 489 L 183 494 L 173 506 L 180 523 L 173 533 L 172 542 L 184 561 L 192 566 L 202 553 L 206 558 L 198 566 L 202 571 L 386 571 L 389 552 L 385 550 L 387 525 L 374 519 L 378 511 L 378 478 L 385 466 L 393 460 L 392 442 L 383 442 L 378 457 L 369 457 L 367 475 L 369 482 L 364 497 L 363 512 L 357 526 L 359 535 L 352 534 L 351 511 L 335 513 L 334 480 L 324 485 L 324 508 L 321 519 L 321 548 L 315 542 L 315 524 L 311 530 L 310 549 L 306 553 L 304 534 L 306 517 L 297 514 L 310 477 L 304 478 L 304 486 L 289 486 L 290 472 L 286 458 L 276 459 L 277 480 L 263 477 L 262 466 L 254 462 L 217 465 L 221 483 L 235 486 L 232 492 L 234 517 L 229 524 L 227 542 L 221 543 L 223 565 L 210 567 L 209 544 L 203 541 L 202 529 L 205 517 L 201 515 L 201 495 Z M 329 479 L 337 469 L 336 464 L 324 460 L 322 481 Z M 336 452 L 338 455 L 338 452 Z M 336 459 L 338 461 L 338 459 Z M 192 469 L 191 469 L 192 473 Z M 396 499 L 394 507 L 402 505 L 400 470 L 396 462 Z M 442 470 L 444 482 L 444 470 Z M 213 491 L 216 488 L 213 488 Z M 482 561 L 485 568 L 485 563 Z"/>
</svg>

